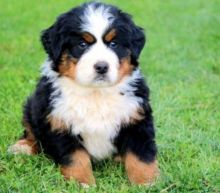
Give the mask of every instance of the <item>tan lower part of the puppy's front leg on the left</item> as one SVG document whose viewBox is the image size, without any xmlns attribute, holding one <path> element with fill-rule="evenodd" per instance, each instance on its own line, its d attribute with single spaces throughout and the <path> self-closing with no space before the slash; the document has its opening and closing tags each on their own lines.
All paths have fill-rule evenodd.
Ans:
<svg viewBox="0 0 220 193">
<path fill-rule="evenodd" d="M 75 179 L 83 185 L 95 184 L 90 156 L 85 150 L 77 150 L 72 154 L 72 162 L 61 166 L 61 173 L 67 179 Z"/>
</svg>

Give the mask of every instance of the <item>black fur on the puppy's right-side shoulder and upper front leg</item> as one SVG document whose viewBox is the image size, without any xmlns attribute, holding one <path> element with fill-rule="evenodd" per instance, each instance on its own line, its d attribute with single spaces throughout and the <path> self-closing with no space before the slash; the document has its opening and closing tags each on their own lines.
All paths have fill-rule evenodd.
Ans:
<svg viewBox="0 0 220 193">
<path fill-rule="evenodd" d="M 155 144 L 155 130 L 153 124 L 152 109 L 149 104 L 149 89 L 143 79 L 139 79 L 132 85 L 135 87 L 135 96 L 141 97 L 143 103 L 143 120 L 135 124 L 122 126 L 118 137 L 115 139 L 115 145 L 120 155 L 131 151 L 141 160 L 152 162 L 155 160 L 157 148 Z"/>
</svg>

